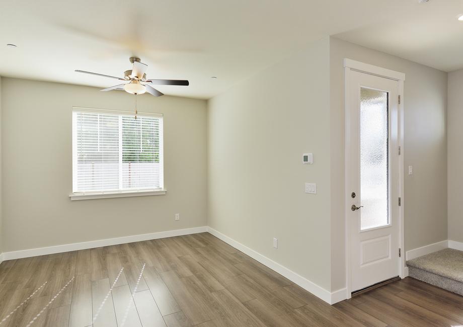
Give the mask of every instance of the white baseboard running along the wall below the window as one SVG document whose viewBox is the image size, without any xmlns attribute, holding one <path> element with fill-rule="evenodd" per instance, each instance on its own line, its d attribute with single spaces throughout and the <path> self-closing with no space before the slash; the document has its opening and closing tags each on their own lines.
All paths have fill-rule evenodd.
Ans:
<svg viewBox="0 0 463 327">
<path fill-rule="evenodd" d="M 207 231 L 207 227 L 201 226 L 201 227 L 192 227 L 192 228 L 185 228 L 185 229 L 160 231 L 156 233 L 106 238 L 106 239 L 99 239 L 99 240 L 93 240 L 93 241 L 88 241 L 88 242 L 63 244 L 63 245 L 53 246 L 53 247 L 4 252 L 0 257 L 0 263 L 2 262 L 2 259 L 3 260 L 13 260 L 13 259 L 28 258 L 28 257 L 44 256 L 44 255 L 51 255 L 54 253 L 93 249 L 93 248 L 112 246 L 116 244 L 138 242 L 138 241 L 148 240 L 148 239 L 157 239 L 157 238 L 165 238 L 165 237 L 172 237 L 172 236 L 203 233 L 205 231 Z"/>
</svg>

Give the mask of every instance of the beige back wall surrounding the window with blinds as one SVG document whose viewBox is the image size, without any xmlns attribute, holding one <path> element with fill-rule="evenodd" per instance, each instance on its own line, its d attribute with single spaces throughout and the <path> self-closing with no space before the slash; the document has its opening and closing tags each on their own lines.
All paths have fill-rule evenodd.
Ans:
<svg viewBox="0 0 463 327">
<path fill-rule="evenodd" d="M 139 96 L 164 113 L 167 195 L 70 201 L 71 107 L 133 109 L 133 96 L 5 77 L 1 90 L 4 252 L 206 225 L 205 101 Z"/>
</svg>

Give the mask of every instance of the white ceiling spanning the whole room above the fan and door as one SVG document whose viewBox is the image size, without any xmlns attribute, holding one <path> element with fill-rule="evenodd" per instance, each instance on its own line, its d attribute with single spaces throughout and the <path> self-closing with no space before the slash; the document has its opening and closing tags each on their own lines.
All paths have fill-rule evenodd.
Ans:
<svg viewBox="0 0 463 327">
<path fill-rule="evenodd" d="M 149 78 L 190 80 L 163 93 L 208 99 L 328 35 L 451 70 L 460 12 L 461 0 L 2 0 L 0 75 L 110 87 L 74 69 L 122 76 L 137 55 Z"/>
</svg>

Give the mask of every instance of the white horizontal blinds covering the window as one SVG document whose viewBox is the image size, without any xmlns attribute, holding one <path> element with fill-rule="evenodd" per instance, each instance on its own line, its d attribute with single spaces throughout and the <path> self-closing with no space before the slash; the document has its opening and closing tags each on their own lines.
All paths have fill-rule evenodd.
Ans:
<svg viewBox="0 0 463 327">
<path fill-rule="evenodd" d="M 162 116 L 74 109 L 72 148 L 74 194 L 164 187 Z"/>
</svg>

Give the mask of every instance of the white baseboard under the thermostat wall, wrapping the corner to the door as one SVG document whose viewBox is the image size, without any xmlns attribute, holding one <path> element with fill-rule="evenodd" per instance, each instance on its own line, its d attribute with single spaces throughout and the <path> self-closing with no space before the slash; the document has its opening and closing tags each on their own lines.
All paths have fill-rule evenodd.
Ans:
<svg viewBox="0 0 463 327">
<path fill-rule="evenodd" d="M 261 264 L 267 266 L 268 268 L 276 271 L 280 275 L 286 277 L 293 283 L 299 285 L 303 289 L 307 290 L 308 292 L 311 292 L 315 296 L 321 298 L 325 302 L 329 304 L 334 304 L 336 302 L 345 300 L 347 298 L 347 293 L 346 289 L 340 289 L 338 291 L 335 291 L 331 293 L 330 291 L 327 291 L 323 287 L 311 282 L 308 279 L 305 279 L 304 277 L 296 274 L 295 272 L 289 270 L 286 267 L 283 267 L 282 265 L 274 262 L 273 260 L 261 255 L 260 253 L 248 248 L 247 246 L 243 245 L 242 243 L 234 240 L 233 238 L 230 238 L 221 232 L 211 228 L 207 227 L 207 231 L 211 233 L 212 235 L 216 236 L 217 238 L 220 238 L 222 241 L 225 243 L 228 243 L 230 246 L 234 247 L 237 250 L 240 250 L 241 252 L 247 254 L 251 258 L 257 260 Z"/>
</svg>

